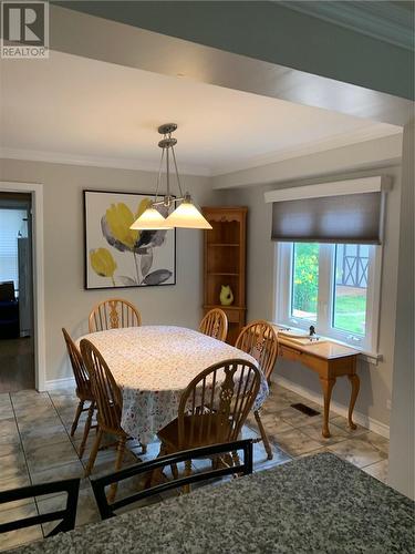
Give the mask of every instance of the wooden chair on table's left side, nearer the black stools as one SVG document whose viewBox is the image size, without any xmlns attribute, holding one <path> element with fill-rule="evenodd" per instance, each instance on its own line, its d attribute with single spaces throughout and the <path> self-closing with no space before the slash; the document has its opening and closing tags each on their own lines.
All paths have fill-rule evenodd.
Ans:
<svg viewBox="0 0 415 554">
<path fill-rule="evenodd" d="M 92 391 L 97 407 L 97 433 L 85 469 L 85 476 L 89 476 L 94 466 L 103 434 L 106 433 L 116 438 L 115 471 L 120 470 L 123 463 L 128 435 L 121 427 L 123 397 L 106 361 L 100 350 L 86 339 L 81 340 L 81 355 L 90 373 Z M 115 493 L 116 485 L 113 485 L 108 499 L 114 500 Z"/>
</svg>

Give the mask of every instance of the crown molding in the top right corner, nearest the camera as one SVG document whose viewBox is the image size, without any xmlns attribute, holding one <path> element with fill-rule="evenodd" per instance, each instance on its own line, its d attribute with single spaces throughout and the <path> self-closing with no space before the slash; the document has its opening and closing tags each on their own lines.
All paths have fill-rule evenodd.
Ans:
<svg viewBox="0 0 415 554">
<path fill-rule="evenodd" d="M 414 51 L 414 11 L 402 3 L 382 1 L 281 0 L 279 4 L 322 19 L 395 47 Z"/>
</svg>

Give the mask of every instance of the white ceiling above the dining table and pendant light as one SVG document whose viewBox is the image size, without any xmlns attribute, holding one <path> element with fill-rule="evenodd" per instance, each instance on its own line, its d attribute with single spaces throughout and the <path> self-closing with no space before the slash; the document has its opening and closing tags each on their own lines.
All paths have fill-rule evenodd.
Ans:
<svg viewBox="0 0 415 554">
<path fill-rule="evenodd" d="M 156 129 L 173 121 L 179 168 L 219 175 L 401 132 L 54 51 L 49 60 L 2 60 L 0 72 L 4 157 L 154 170 Z"/>
</svg>

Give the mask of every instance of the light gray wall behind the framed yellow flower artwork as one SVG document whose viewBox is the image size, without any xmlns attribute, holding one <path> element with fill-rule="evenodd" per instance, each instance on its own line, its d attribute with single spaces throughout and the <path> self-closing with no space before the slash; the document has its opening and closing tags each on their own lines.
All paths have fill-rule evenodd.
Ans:
<svg viewBox="0 0 415 554">
<path fill-rule="evenodd" d="M 111 290 L 84 290 L 84 188 L 151 193 L 155 175 L 148 172 L 0 160 L 0 181 L 44 185 L 44 287 L 46 380 L 70 376 L 61 328 L 73 337 L 87 332 L 87 316 Z M 200 205 L 219 204 L 206 177 L 183 176 Z M 133 301 L 145 324 L 196 327 L 201 316 L 203 234 L 177 230 L 176 285 L 117 289 Z"/>
</svg>

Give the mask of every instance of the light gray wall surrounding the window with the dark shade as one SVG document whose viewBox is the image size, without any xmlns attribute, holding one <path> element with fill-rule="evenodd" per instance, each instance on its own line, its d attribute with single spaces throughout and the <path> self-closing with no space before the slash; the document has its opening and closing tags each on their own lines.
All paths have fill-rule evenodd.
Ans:
<svg viewBox="0 0 415 554">
<path fill-rule="evenodd" d="M 330 153 L 328 153 L 330 155 Z M 394 355 L 396 283 L 397 283 L 397 249 L 400 236 L 400 167 L 386 167 L 377 171 L 365 171 L 336 175 L 336 179 L 366 175 L 391 175 L 394 181 L 393 191 L 387 197 L 387 213 L 384 243 L 384 259 L 382 270 L 381 315 L 380 315 L 380 345 L 378 351 L 383 360 L 377 366 L 360 362 L 359 376 L 361 390 L 356 410 L 386 425 L 390 422 L 390 411 L 386 401 L 392 394 L 392 373 Z M 298 181 L 286 186 L 307 185 L 317 182 L 333 181 L 309 179 Z M 280 184 L 279 187 L 283 187 Z M 249 207 L 248 212 L 248 320 L 273 319 L 273 270 L 274 243 L 271 235 L 271 204 L 263 199 L 264 191 L 272 189 L 271 185 L 239 188 L 226 192 L 228 204 L 239 204 Z M 300 363 L 279 361 L 277 375 L 305 387 L 312 392 L 321 394 L 319 379 Z M 338 379 L 333 390 L 333 400 L 343 406 L 349 404 L 350 386 L 346 379 Z"/>
</svg>

